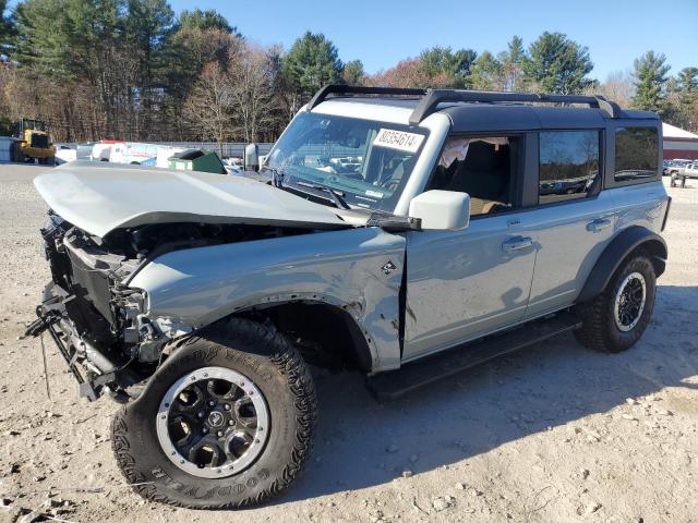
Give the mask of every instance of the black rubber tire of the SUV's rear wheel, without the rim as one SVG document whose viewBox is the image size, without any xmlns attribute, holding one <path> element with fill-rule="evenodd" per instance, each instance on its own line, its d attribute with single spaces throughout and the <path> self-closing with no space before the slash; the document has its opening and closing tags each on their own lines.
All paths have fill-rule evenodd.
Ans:
<svg viewBox="0 0 698 523">
<path fill-rule="evenodd" d="M 614 303 L 621 284 L 633 272 L 639 272 L 645 278 L 645 307 L 637 325 L 624 332 L 616 325 Z M 594 351 L 617 353 L 629 349 L 640 339 L 650 323 L 655 292 L 657 276 L 652 262 L 643 253 L 630 255 L 616 269 L 603 292 L 579 307 L 582 325 L 575 331 L 575 337 Z"/>
</svg>

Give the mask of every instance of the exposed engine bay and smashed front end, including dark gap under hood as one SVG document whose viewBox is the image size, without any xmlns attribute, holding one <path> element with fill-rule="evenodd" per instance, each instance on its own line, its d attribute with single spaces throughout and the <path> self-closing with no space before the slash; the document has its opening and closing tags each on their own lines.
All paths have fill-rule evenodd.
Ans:
<svg viewBox="0 0 698 523">
<path fill-rule="evenodd" d="M 128 287 L 145 265 L 168 252 L 312 233 L 274 226 L 155 223 L 91 235 L 49 211 L 41 229 L 51 283 L 27 329 L 48 330 L 89 400 L 109 392 L 137 396 L 168 342 L 192 331 L 172 318 L 147 316 L 147 296 Z"/>
</svg>

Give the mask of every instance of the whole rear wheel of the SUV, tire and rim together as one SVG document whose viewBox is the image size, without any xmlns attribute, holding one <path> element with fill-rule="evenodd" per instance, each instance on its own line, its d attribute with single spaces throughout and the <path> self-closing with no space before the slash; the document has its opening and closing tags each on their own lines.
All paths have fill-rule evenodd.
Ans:
<svg viewBox="0 0 698 523">
<path fill-rule="evenodd" d="M 586 346 L 622 352 L 640 339 L 652 317 L 657 276 L 643 254 L 628 258 L 591 303 L 580 307 L 582 326 L 575 332 Z"/>
</svg>

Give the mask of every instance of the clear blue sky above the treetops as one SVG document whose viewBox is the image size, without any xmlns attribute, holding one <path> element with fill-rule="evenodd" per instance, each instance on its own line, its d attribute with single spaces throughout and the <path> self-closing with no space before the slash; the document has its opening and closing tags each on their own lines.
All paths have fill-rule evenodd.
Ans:
<svg viewBox="0 0 698 523">
<path fill-rule="evenodd" d="M 528 47 L 544 31 L 589 48 L 591 76 L 629 71 L 648 50 L 663 52 L 671 74 L 698 66 L 698 0 L 249 1 L 170 0 L 184 9 L 215 9 L 250 40 L 290 48 L 305 31 L 324 33 L 342 61 L 368 73 L 389 69 L 432 46 L 497 53 L 513 35 Z"/>
</svg>

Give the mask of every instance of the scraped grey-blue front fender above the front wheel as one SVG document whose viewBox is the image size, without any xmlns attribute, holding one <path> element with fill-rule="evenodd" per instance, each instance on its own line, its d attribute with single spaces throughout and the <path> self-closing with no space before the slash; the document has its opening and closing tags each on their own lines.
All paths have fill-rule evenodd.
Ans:
<svg viewBox="0 0 698 523">
<path fill-rule="evenodd" d="M 366 340 L 372 372 L 387 370 L 400 363 L 405 244 L 400 235 L 358 228 L 176 251 L 154 259 L 129 285 L 147 293 L 149 317 L 194 328 L 276 302 L 341 307 Z"/>
</svg>

